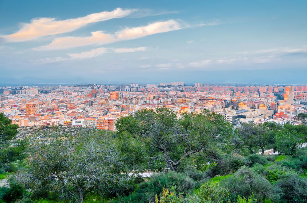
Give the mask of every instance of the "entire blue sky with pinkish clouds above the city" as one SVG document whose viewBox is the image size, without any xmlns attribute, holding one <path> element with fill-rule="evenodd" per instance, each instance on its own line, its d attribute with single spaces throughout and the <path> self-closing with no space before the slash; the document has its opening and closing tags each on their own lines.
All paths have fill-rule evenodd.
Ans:
<svg viewBox="0 0 307 203">
<path fill-rule="evenodd" d="M 303 84 L 306 10 L 306 0 L 1 0 L 0 80 Z"/>
</svg>

